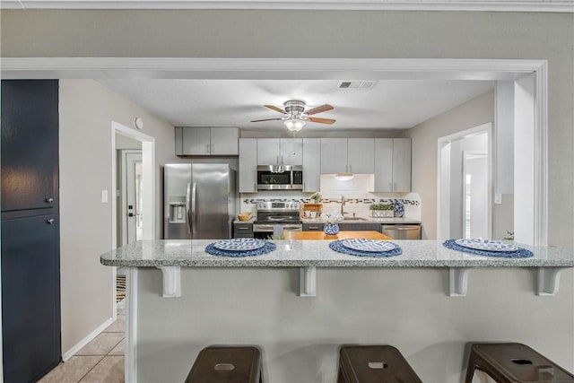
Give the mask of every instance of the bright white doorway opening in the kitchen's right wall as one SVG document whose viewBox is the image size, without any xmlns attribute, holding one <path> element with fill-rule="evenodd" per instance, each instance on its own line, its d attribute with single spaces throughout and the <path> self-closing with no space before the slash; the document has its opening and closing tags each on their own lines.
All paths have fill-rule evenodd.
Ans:
<svg viewBox="0 0 574 383">
<path fill-rule="evenodd" d="M 437 238 L 492 237 L 492 124 L 439 138 Z"/>
</svg>

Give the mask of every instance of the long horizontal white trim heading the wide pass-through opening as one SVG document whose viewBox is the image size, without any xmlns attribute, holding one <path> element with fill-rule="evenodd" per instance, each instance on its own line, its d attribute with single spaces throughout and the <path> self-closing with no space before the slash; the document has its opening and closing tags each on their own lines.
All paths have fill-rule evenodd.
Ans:
<svg viewBox="0 0 574 383">
<path fill-rule="evenodd" d="M 2 57 L 2 78 L 516 80 L 546 60 Z"/>
</svg>

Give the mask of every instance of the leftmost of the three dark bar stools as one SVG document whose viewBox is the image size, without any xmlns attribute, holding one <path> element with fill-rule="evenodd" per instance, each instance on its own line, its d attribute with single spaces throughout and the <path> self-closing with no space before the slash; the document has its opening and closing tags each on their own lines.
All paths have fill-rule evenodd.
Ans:
<svg viewBox="0 0 574 383">
<path fill-rule="evenodd" d="M 261 353 L 253 346 L 209 346 L 196 358 L 186 383 L 262 383 Z"/>
</svg>

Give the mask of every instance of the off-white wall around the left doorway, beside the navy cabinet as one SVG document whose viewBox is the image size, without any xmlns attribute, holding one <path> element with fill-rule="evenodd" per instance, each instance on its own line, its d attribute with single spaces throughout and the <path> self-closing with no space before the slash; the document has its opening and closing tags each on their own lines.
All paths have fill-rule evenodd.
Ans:
<svg viewBox="0 0 574 383">
<path fill-rule="evenodd" d="M 156 192 L 160 164 L 174 155 L 173 126 L 91 80 L 62 80 L 60 109 L 60 261 L 62 351 L 65 353 L 112 316 L 112 269 L 100 254 L 112 248 L 111 121 L 131 126 L 143 118 L 143 133 L 156 139 Z M 161 233 L 158 206 L 158 235 Z"/>
</svg>

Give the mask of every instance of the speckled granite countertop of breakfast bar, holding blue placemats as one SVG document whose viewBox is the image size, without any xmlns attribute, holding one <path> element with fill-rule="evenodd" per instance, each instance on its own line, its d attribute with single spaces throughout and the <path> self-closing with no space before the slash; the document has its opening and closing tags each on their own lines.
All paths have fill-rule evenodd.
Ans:
<svg viewBox="0 0 574 383">
<path fill-rule="evenodd" d="M 574 250 L 533 248 L 535 257 L 482 257 L 445 248 L 439 240 L 394 240 L 397 257 L 354 257 L 328 247 L 329 240 L 274 240 L 277 249 L 256 257 L 217 257 L 204 249 L 214 239 L 138 240 L 100 257 L 103 265 L 128 267 L 535 267 L 574 266 Z"/>
</svg>

